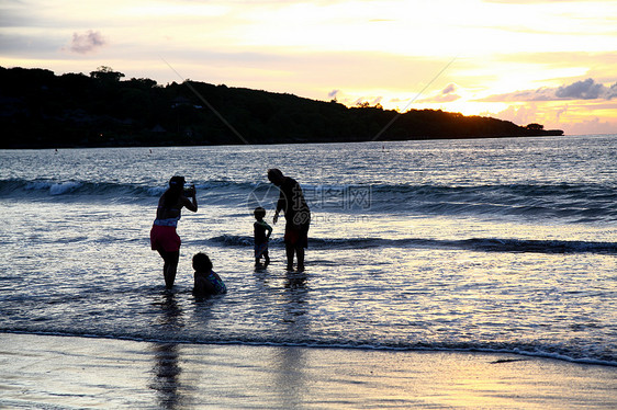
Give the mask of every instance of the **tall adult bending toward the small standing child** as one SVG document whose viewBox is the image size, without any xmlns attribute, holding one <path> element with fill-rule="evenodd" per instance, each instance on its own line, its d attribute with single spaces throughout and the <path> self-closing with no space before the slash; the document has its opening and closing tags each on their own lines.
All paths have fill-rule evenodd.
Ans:
<svg viewBox="0 0 617 410">
<path fill-rule="evenodd" d="M 285 253 L 287 269 L 293 270 L 293 258 L 298 259 L 298 271 L 304 271 L 304 249 L 308 247 L 308 227 L 311 225 L 311 210 L 302 187 L 293 178 L 283 175 L 279 169 L 268 170 L 268 180 L 279 187 L 280 195 L 272 223 L 279 220 L 279 213 L 285 215 Z"/>
</svg>

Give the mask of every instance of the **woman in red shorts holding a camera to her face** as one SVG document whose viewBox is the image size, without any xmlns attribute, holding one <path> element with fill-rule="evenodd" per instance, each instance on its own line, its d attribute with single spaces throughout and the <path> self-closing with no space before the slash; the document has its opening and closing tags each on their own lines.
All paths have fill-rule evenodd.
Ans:
<svg viewBox="0 0 617 410">
<path fill-rule="evenodd" d="M 187 197 L 186 195 L 189 195 Z M 192 187 L 184 191 L 184 176 L 172 176 L 169 180 L 169 189 L 160 196 L 156 219 L 150 230 L 152 249 L 158 251 L 164 260 L 162 274 L 165 286 L 170 289 L 176 281 L 178 271 L 178 260 L 180 259 L 181 240 L 176 232 L 181 210 L 186 207 L 189 210 L 198 210 L 195 190 Z"/>
</svg>

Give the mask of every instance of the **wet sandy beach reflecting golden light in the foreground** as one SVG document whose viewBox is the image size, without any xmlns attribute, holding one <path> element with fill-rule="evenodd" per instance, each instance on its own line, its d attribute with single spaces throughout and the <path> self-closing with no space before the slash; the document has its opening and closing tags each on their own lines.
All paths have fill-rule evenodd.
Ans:
<svg viewBox="0 0 617 410">
<path fill-rule="evenodd" d="M 614 409 L 617 368 L 463 352 L 0 333 L 0 408 Z"/>
</svg>

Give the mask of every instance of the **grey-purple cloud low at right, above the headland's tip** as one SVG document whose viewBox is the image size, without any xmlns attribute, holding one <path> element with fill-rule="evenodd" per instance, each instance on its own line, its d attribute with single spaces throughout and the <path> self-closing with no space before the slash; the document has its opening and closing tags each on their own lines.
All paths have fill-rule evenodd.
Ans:
<svg viewBox="0 0 617 410">
<path fill-rule="evenodd" d="M 563 101 L 563 100 L 612 100 L 617 98 L 617 82 L 610 87 L 595 82 L 594 79 L 576 81 L 557 88 L 539 88 L 505 94 L 490 95 L 478 101 L 483 102 L 521 102 L 521 101 Z"/>
</svg>

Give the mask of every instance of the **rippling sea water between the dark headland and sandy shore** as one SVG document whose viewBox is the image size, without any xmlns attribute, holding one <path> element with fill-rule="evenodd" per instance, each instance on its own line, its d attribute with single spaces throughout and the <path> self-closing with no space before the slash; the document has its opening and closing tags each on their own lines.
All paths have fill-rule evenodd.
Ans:
<svg viewBox="0 0 617 410">
<path fill-rule="evenodd" d="M 617 365 L 617 136 L 0 151 L 0 331 L 166 343 L 509 352 Z M 311 206 L 255 269 L 269 168 Z M 149 229 L 170 176 L 173 291 Z M 228 293 L 191 295 L 206 252 Z"/>
</svg>

